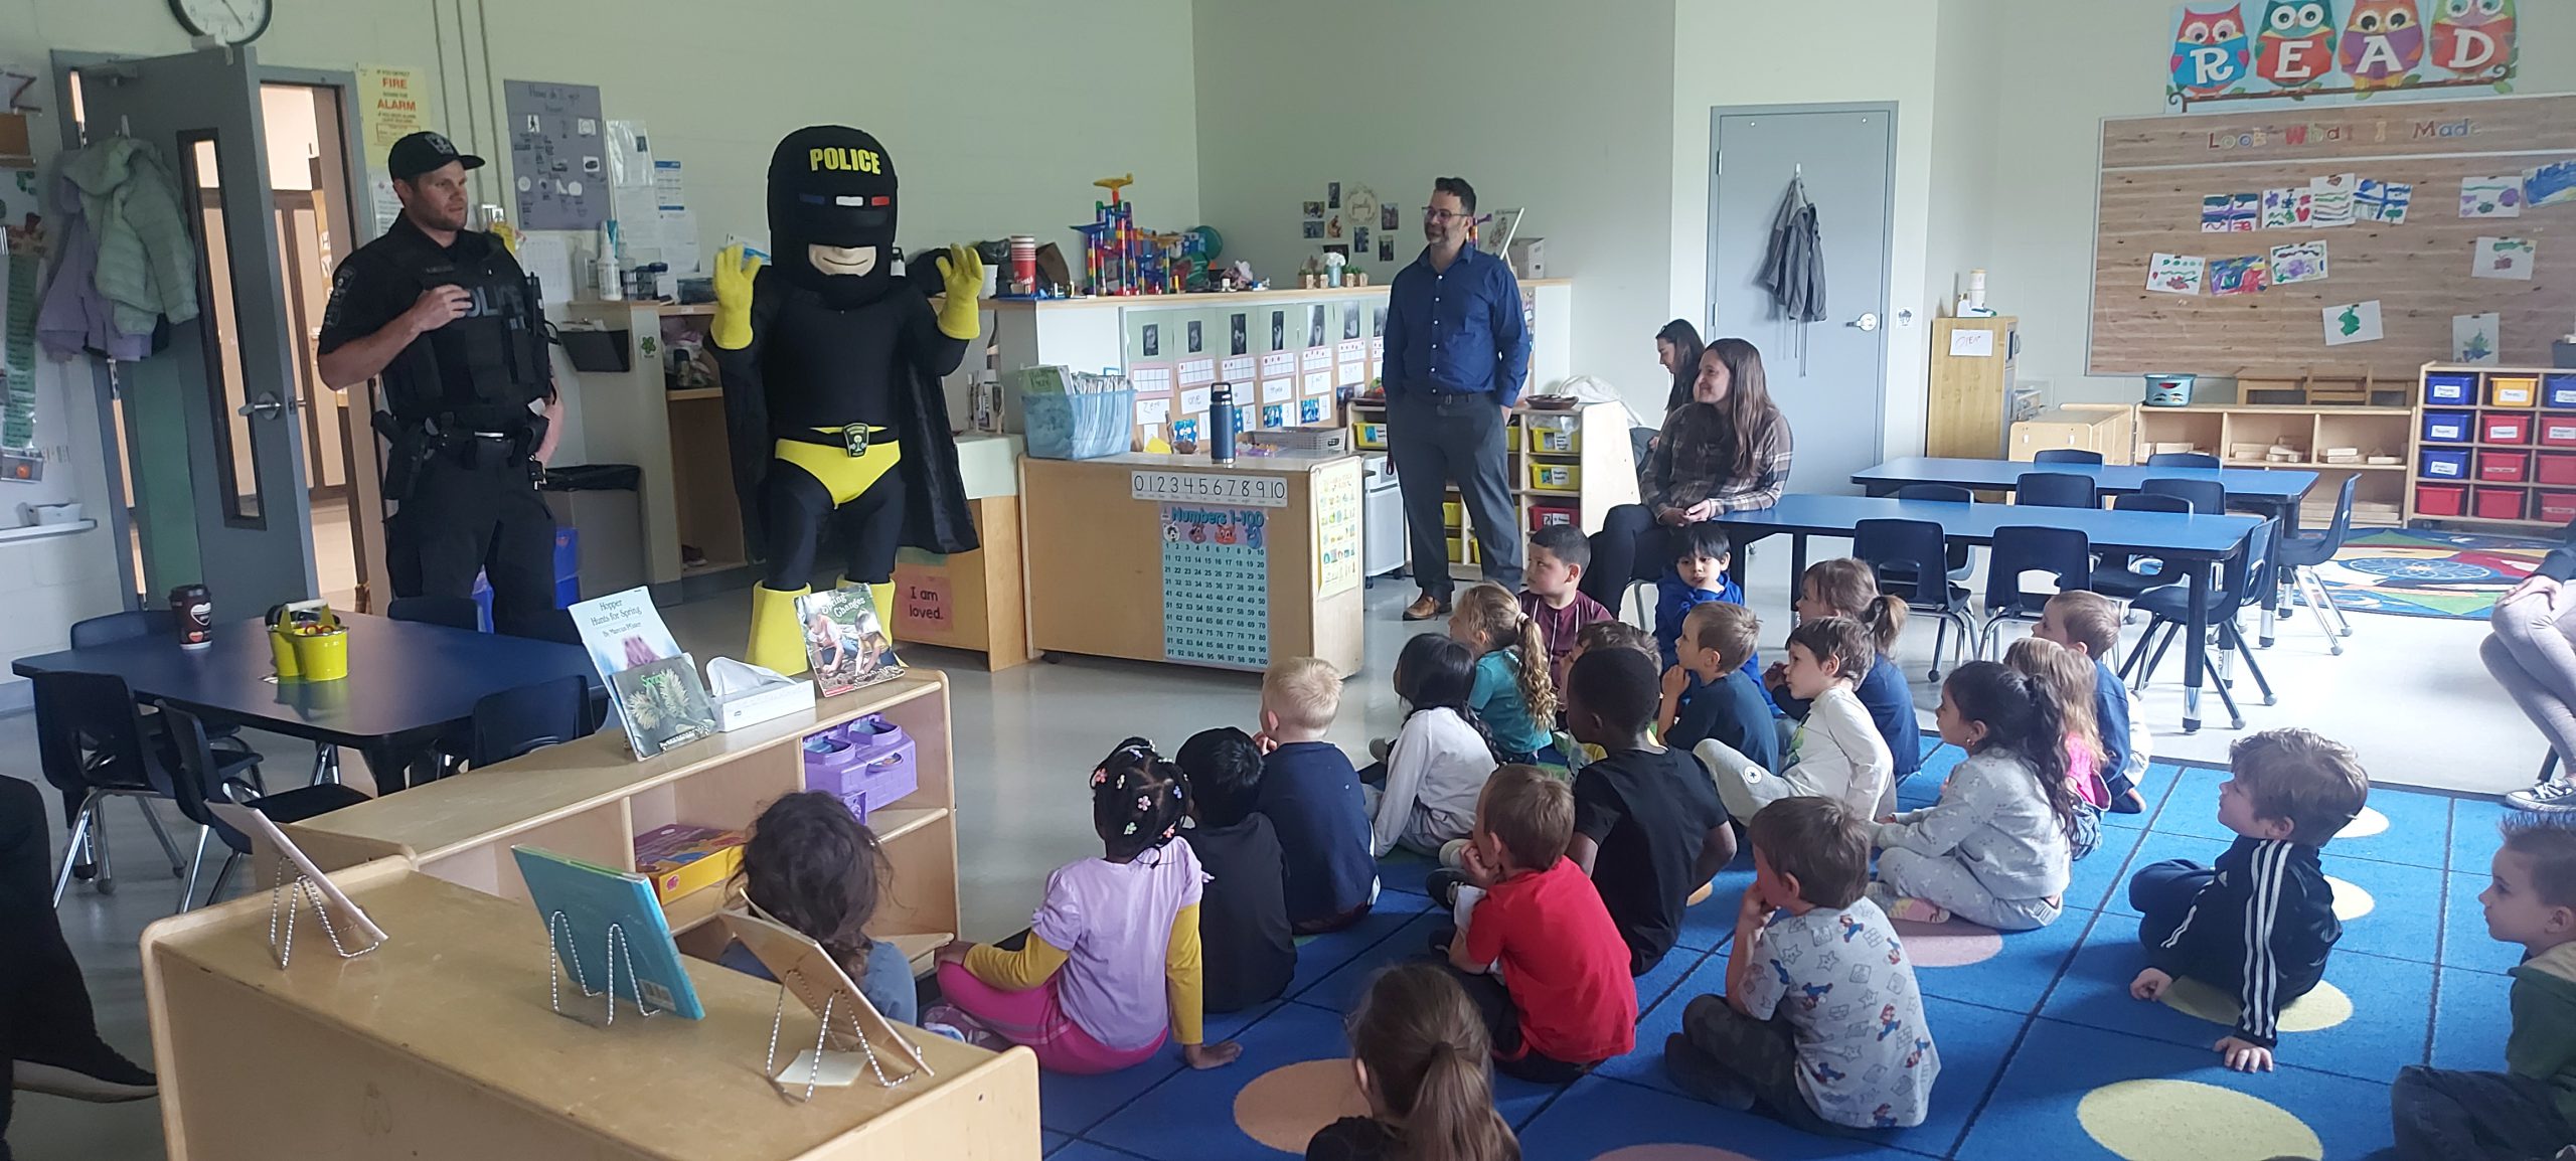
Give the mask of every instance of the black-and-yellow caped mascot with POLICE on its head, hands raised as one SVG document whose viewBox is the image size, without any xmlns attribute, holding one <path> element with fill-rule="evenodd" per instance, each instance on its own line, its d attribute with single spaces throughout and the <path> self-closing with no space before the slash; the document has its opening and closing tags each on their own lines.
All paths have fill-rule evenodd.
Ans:
<svg viewBox="0 0 2576 1161">
<path fill-rule="evenodd" d="M 752 664 L 806 669 L 804 597 L 832 548 L 842 584 L 868 584 L 894 623 L 894 551 L 976 548 L 940 376 L 976 337 L 984 260 L 951 247 L 933 309 L 894 275 L 894 160 L 848 126 L 809 126 L 770 154 L 770 263 L 716 255 L 708 337 L 742 497 L 762 561 Z M 938 257 L 935 257 L 938 260 Z"/>
</svg>

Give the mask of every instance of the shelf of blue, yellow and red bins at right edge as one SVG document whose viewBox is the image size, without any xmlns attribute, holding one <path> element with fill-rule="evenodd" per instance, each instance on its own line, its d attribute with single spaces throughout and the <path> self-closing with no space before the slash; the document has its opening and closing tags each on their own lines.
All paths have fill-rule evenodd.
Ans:
<svg viewBox="0 0 2576 1161">
<path fill-rule="evenodd" d="M 2576 520 L 2576 371 L 2427 363 L 2411 435 L 2409 523 Z"/>
</svg>

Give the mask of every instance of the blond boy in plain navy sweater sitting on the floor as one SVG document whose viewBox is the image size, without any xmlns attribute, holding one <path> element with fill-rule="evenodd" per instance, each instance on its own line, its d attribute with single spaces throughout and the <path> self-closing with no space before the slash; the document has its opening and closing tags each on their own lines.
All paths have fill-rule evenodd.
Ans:
<svg viewBox="0 0 2576 1161">
<path fill-rule="evenodd" d="M 1324 741 L 1342 711 L 1342 672 L 1319 656 L 1288 656 L 1262 674 L 1262 785 L 1252 808 L 1270 816 L 1296 934 L 1340 932 L 1378 901 L 1360 775 Z"/>
</svg>

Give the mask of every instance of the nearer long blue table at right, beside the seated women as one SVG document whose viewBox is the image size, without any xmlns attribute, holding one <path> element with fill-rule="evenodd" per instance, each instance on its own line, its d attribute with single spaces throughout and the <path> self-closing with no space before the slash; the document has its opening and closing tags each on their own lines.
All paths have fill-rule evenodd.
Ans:
<svg viewBox="0 0 2576 1161">
<path fill-rule="evenodd" d="M 2182 651 L 2182 731 L 2200 729 L 2202 664 L 2197 641 L 2210 628 L 2210 566 L 2226 564 L 2244 551 L 2246 535 L 2262 528 L 2251 515 L 2200 515 L 2200 512 L 2115 512 L 2107 507 L 2020 507 L 2020 505 L 1953 505 L 1940 499 L 1896 497 L 1824 497 L 1793 492 L 1772 507 L 1752 512 L 1721 512 L 1716 523 L 1736 546 L 1767 535 L 1790 538 L 1790 577 L 1806 574 L 1808 535 L 1852 535 L 1862 520 L 1927 520 L 1942 528 L 1950 543 L 1994 543 L 1994 530 L 2007 525 L 2074 528 L 2092 538 L 2094 551 L 2125 551 L 2182 564 L 2190 574 L 2190 618 L 2182 626 L 2192 649 Z M 1741 561 L 1741 556 L 1739 556 Z"/>
</svg>

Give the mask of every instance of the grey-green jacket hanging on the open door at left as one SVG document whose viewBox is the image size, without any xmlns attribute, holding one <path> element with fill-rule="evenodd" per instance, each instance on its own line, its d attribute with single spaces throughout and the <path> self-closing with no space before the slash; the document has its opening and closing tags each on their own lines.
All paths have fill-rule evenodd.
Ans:
<svg viewBox="0 0 2576 1161">
<path fill-rule="evenodd" d="M 116 306 L 116 330 L 149 335 L 162 317 L 193 319 L 196 242 L 160 149 L 111 136 L 67 154 L 62 178 L 98 232 L 98 293 Z"/>
</svg>

